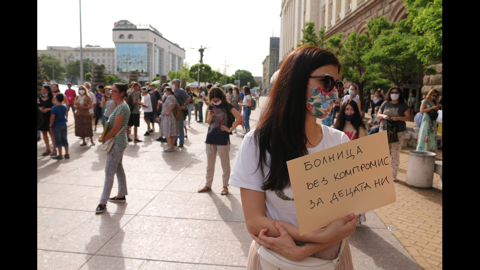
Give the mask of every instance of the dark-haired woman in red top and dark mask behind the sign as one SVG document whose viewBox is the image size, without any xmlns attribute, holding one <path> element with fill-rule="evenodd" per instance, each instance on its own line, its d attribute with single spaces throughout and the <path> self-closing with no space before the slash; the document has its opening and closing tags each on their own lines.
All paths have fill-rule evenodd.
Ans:
<svg viewBox="0 0 480 270">
<path fill-rule="evenodd" d="M 345 132 L 350 141 L 367 136 L 367 131 L 361 120 L 360 110 L 355 100 L 350 99 L 342 105 L 335 128 Z M 360 227 L 361 222 L 365 221 L 365 213 L 357 215 L 357 226 Z"/>
</svg>

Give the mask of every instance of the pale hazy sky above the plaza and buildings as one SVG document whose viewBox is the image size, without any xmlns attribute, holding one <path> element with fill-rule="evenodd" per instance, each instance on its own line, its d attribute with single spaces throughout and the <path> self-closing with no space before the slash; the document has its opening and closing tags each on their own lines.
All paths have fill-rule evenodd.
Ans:
<svg viewBox="0 0 480 270">
<path fill-rule="evenodd" d="M 137 3 L 135 5 L 135 3 Z M 78 0 L 37 0 L 37 49 L 80 46 Z M 203 63 L 227 74 L 262 76 L 270 37 L 280 37 L 281 0 L 82 0 L 82 45 L 115 47 L 114 23 L 150 24 L 185 49 L 191 67 Z"/>
</svg>

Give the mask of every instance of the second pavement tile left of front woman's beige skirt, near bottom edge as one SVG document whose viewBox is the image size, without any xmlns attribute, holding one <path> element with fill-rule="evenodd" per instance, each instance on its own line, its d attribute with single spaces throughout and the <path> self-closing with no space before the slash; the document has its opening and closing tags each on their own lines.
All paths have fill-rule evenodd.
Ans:
<svg viewBox="0 0 480 270">
<path fill-rule="evenodd" d="M 202 258 L 208 239 L 163 236 L 153 247 L 148 259 L 198 263 Z"/>
</svg>

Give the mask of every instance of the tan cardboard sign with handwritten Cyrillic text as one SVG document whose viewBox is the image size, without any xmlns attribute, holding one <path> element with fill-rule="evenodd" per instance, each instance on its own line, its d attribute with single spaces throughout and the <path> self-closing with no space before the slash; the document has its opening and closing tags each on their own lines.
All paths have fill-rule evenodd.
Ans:
<svg viewBox="0 0 480 270">
<path fill-rule="evenodd" d="M 386 131 L 287 162 L 300 235 L 396 201 Z"/>
</svg>

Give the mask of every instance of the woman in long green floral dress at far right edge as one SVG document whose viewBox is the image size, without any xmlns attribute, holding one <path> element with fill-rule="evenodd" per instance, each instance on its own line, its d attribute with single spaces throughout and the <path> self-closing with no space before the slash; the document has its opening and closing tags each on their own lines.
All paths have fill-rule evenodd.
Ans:
<svg viewBox="0 0 480 270">
<path fill-rule="evenodd" d="M 420 112 L 423 113 L 420 132 L 418 133 L 417 151 L 437 152 L 437 130 L 436 118 L 430 115 L 432 111 L 437 112 L 440 109 L 438 98 L 440 93 L 436 89 L 429 91 L 422 104 Z"/>
</svg>

